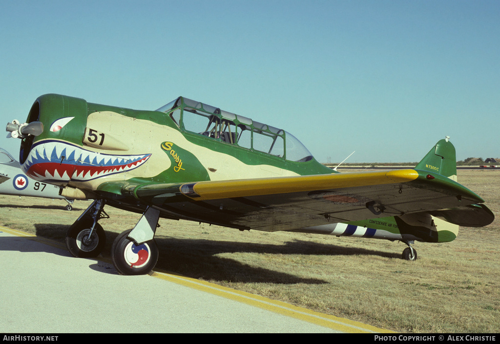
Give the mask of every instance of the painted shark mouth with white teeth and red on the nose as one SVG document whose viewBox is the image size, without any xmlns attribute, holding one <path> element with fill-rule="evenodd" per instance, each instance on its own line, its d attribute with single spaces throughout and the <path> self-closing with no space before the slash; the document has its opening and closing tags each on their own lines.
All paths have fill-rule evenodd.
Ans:
<svg viewBox="0 0 500 344">
<path fill-rule="evenodd" d="M 87 181 L 137 168 L 149 156 L 102 154 L 69 143 L 43 141 L 33 145 L 22 169 L 35 179 Z"/>
</svg>

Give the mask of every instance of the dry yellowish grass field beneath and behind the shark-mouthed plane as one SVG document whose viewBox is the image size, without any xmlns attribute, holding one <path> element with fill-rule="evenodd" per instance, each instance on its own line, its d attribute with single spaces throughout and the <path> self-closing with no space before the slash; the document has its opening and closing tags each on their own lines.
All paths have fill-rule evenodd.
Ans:
<svg viewBox="0 0 500 344">
<path fill-rule="evenodd" d="M 459 170 L 458 181 L 486 200 L 494 222 L 461 227 L 449 243 L 415 242 L 414 262 L 400 258 L 401 242 L 160 219 L 156 268 L 399 332 L 498 332 L 500 171 Z M 65 204 L 0 195 L 0 225 L 63 241 L 89 202 Z M 140 215 L 104 210 L 107 256 Z"/>
</svg>

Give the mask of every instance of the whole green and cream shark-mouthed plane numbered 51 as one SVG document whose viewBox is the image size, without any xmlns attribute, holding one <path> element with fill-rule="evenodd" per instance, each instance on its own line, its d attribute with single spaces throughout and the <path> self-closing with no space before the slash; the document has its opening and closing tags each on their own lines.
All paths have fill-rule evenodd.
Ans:
<svg viewBox="0 0 500 344">
<path fill-rule="evenodd" d="M 317 162 L 292 134 L 185 97 L 155 111 L 45 94 L 26 123 L 22 170 L 61 196 L 94 199 L 71 225 L 66 245 L 96 256 L 105 235 L 103 207 L 142 213 L 113 241 L 121 274 L 156 264 L 159 217 L 239 230 L 288 230 L 400 240 L 453 240 L 458 226 L 484 226 L 493 213 L 456 182 L 455 149 L 439 140 L 414 169 L 338 173 Z"/>
</svg>

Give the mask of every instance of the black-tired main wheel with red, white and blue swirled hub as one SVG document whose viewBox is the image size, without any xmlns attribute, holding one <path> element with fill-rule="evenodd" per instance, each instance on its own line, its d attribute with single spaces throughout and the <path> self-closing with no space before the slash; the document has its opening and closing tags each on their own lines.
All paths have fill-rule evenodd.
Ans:
<svg viewBox="0 0 500 344">
<path fill-rule="evenodd" d="M 146 274 L 156 265 L 158 247 L 154 239 L 135 245 L 127 237 L 131 231 L 125 230 L 114 239 L 111 246 L 113 265 L 120 274 Z"/>
</svg>

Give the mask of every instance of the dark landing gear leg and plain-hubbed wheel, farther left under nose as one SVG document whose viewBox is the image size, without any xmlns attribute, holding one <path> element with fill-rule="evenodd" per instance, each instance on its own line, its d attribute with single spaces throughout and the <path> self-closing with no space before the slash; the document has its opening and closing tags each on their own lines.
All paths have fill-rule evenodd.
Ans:
<svg viewBox="0 0 500 344">
<path fill-rule="evenodd" d="M 105 200 L 96 199 L 69 227 L 66 233 L 66 247 L 75 257 L 96 257 L 104 244 L 106 235 L 101 225 L 97 221 L 104 216 Z M 104 212 L 107 216 L 107 214 Z M 107 216 L 109 217 L 109 216 Z"/>
</svg>

